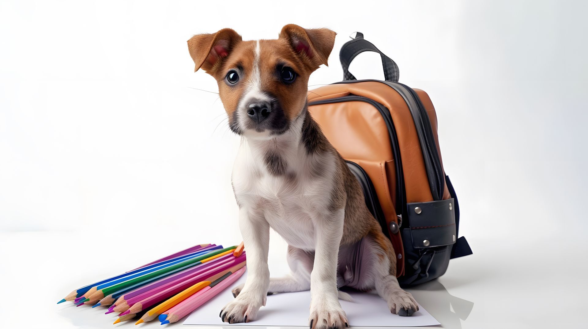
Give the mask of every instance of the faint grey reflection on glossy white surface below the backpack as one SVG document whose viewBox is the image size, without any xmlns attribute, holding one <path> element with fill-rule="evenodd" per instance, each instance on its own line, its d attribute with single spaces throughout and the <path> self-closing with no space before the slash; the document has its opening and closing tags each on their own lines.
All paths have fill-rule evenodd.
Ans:
<svg viewBox="0 0 588 329">
<path fill-rule="evenodd" d="M 429 281 L 416 287 L 406 288 L 417 303 L 441 323 L 443 328 L 461 328 L 474 303 L 450 294 L 438 280 Z"/>
</svg>

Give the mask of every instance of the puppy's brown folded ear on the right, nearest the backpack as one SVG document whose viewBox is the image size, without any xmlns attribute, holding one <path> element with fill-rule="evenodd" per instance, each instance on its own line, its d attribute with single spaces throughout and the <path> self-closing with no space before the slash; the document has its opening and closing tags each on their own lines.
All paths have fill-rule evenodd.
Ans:
<svg viewBox="0 0 588 329">
<path fill-rule="evenodd" d="M 288 24 L 282 28 L 280 39 L 288 41 L 306 65 L 316 70 L 321 64 L 329 66 L 327 59 L 333 50 L 336 34 L 326 28 L 303 29 L 298 25 Z"/>
</svg>

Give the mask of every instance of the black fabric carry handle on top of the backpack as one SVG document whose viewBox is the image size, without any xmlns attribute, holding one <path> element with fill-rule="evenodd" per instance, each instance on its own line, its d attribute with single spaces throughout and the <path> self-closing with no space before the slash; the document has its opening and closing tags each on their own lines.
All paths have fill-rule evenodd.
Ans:
<svg viewBox="0 0 588 329">
<path fill-rule="evenodd" d="M 351 41 L 348 41 L 341 47 L 341 51 L 339 52 L 339 59 L 341 61 L 341 66 L 343 67 L 343 80 L 357 80 L 355 76 L 353 76 L 349 72 L 349 64 L 353 61 L 355 56 L 359 55 L 365 51 L 373 51 L 380 54 L 382 57 L 382 67 L 384 69 L 384 78 L 386 81 L 398 82 L 398 78 L 400 76 L 400 71 L 398 70 L 398 65 L 388 56 L 384 55 L 380 49 L 377 49 L 373 43 L 363 39 L 362 32 L 355 32 L 355 38 L 352 38 Z"/>
</svg>

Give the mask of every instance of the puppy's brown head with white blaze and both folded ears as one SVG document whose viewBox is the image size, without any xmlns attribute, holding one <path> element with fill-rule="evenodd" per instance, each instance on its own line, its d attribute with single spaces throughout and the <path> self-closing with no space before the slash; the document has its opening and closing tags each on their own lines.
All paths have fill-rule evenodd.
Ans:
<svg viewBox="0 0 588 329">
<path fill-rule="evenodd" d="M 305 107 L 310 73 L 327 59 L 335 43 L 329 29 L 289 24 L 278 39 L 242 41 L 233 29 L 188 40 L 196 70 L 219 86 L 233 132 L 270 137 L 286 132 Z"/>
</svg>

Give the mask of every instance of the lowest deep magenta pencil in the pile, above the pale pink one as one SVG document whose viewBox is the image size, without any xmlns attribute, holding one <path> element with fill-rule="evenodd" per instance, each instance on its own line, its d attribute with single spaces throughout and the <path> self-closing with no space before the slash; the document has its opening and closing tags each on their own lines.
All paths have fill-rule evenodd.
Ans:
<svg viewBox="0 0 588 329">
<path fill-rule="evenodd" d="M 128 306 L 130 306 L 131 308 L 129 308 L 129 310 L 126 310 L 125 312 L 121 313 L 120 315 L 126 315 L 126 314 L 134 314 L 134 313 L 138 313 L 142 310 L 145 310 L 145 308 L 152 306 L 155 303 L 158 303 L 159 301 L 162 301 L 166 298 L 169 298 L 177 293 L 180 293 L 183 290 L 186 290 L 186 288 L 192 286 L 193 284 L 199 283 L 201 281 L 205 281 L 206 278 L 210 278 L 215 276 L 216 274 L 222 273 L 223 271 L 229 270 L 231 267 L 236 266 L 240 263 L 244 264 L 245 262 L 245 255 L 241 255 L 239 257 L 234 257 L 233 256 L 233 260 L 232 261 L 228 261 L 225 264 L 222 264 L 219 267 L 216 268 L 212 268 L 209 271 L 206 271 L 205 273 L 202 273 L 198 276 L 195 276 L 189 280 L 179 280 L 180 282 L 178 284 L 176 284 L 173 287 L 169 287 L 166 290 L 162 290 L 159 291 L 158 293 L 152 294 L 151 296 L 145 297 L 143 299 L 139 299 L 139 296 L 131 298 L 131 300 L 128 301 Z"/>
</svg>

